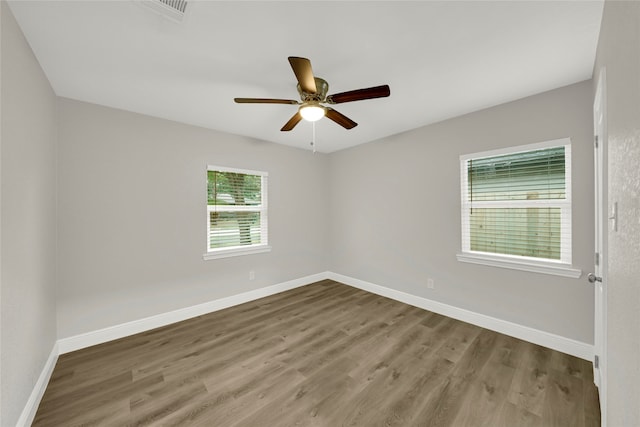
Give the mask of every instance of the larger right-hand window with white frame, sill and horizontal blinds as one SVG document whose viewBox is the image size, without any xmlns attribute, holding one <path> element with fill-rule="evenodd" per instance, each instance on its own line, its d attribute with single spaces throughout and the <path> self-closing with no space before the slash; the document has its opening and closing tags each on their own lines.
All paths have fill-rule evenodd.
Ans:
<svg viewBox="0 0 640 427">
<path fill-rule="evenodd" d="M 569 139 L 461 156 L 460 172 L 460 261 L 579 277 Z"/>
</svg>

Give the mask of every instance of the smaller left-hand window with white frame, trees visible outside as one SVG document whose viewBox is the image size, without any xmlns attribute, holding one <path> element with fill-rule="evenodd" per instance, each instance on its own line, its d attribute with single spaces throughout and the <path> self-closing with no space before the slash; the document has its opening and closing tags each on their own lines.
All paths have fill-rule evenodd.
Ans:
<svg viewBox="0 0 640 427">
<path fill-rule="evenodd" d="M 207 253 L 204 259 L 266 252 L 267 173 L 207 168 Z"/>
</svg>

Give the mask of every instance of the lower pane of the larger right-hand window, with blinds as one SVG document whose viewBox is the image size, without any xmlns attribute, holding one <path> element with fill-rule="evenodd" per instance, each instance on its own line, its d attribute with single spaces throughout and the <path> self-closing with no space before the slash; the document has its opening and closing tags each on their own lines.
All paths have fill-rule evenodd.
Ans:
<svg viewBox="0 0 640 427">
<path fill-rule="evenodd" d="M 561 208 L 473 208 L 472 251 L 560 260 Z"/>
</svg>

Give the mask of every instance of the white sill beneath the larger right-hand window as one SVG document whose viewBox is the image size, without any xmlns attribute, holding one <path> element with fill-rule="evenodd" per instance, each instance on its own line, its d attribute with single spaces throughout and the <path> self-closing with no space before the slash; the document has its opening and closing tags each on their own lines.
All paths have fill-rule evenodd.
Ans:
<svg viewBox="0 0 640 427">
<path fill-rule="evenodd" d="M 456 258 L 458 258 L 458 261 L 460 262 L 529 271 L 532 273 L 552 274 L 554 276 L 570 277 L 572 279 L 578 279 L 582 276 L 582 270 L 573 268 L 568 264 L 533 261 L 528 259 L 520 260 L 516 258 L 469 252 L 457 254 Z"/>
</svg>

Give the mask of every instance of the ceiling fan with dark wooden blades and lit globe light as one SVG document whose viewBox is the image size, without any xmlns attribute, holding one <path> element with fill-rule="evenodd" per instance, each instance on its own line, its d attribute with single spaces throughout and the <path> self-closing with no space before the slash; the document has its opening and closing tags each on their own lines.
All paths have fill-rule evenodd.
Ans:
<svg viewBox="0 0 640 427">
<path fill-rule="evenodd" d="M 301 101 L 293 99 L 271 99 L 271 98 L 234 98 L 239 104 L 292 104 L 299 105 L 298 112 L 280 129 L 290 131 L 302 119 L 315 122 L 322 117 L 333 120 L 345 129 L 353 129 L 358 126 L 356 122 L 331 107 L 323 104 L 341 104 L 343 102 L 362 101 L 365 99 L 384 98 L 389 96 L 391 91 L 388 85 L 374 86 L 366 89 L 356 89 L 347 92 L 327 95 L 329 83 L 320 77 L 315 77 L 311 69 L 311 61 L 307 58 L 290 56 L 289 63 L 293 68 L 293 73 L 298 79 L 298 92 Z"/>
</svg>

